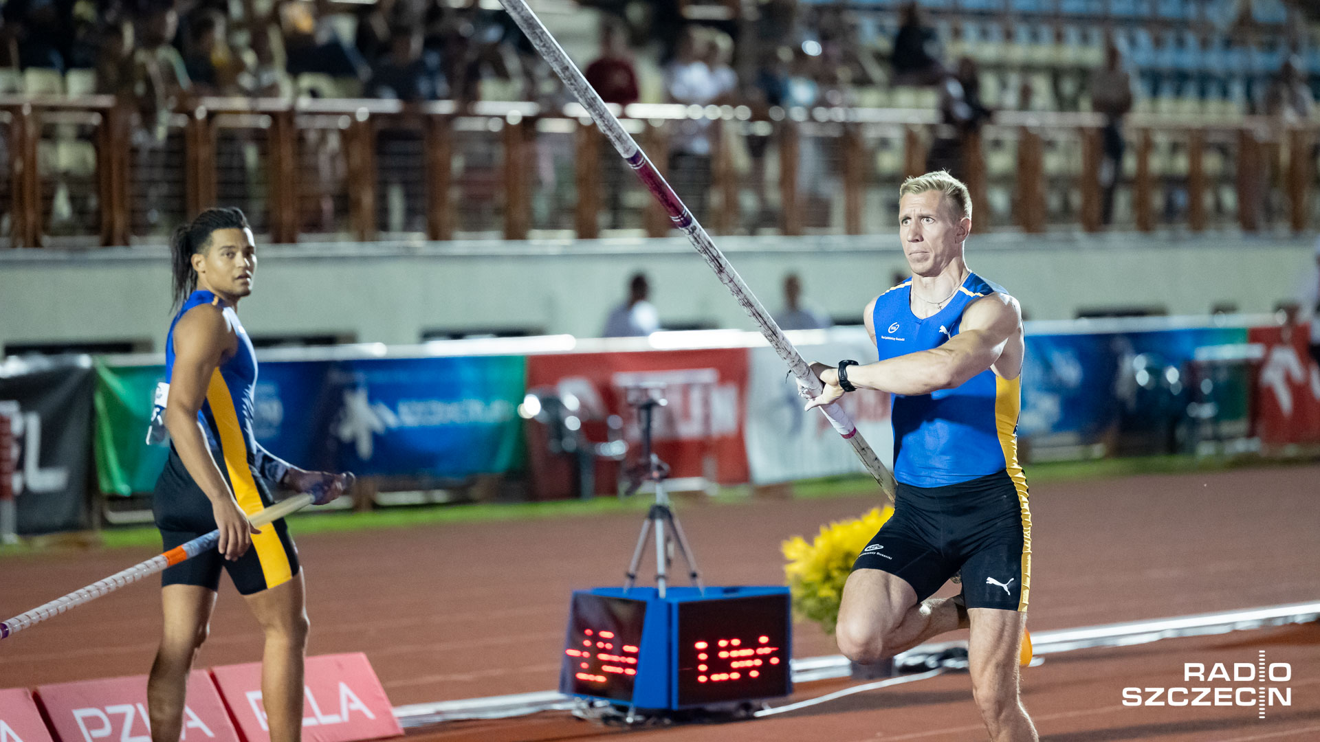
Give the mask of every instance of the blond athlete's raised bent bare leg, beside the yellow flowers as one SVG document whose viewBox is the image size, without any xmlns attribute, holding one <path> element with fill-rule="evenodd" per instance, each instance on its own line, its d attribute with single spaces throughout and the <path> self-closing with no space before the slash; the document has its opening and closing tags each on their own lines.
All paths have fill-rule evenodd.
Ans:
<svg viewBox="0 0 1320 742">
<path fill-rule="evenodd" d="M 847 576 L 834 631 L 838 648 L 850 660 L 876 663 L 925 642 L 931 636 L 965 628 L 952 598 L 920 603 L 906 580 L 879 569 L 857 569 Z"/>
</svg>

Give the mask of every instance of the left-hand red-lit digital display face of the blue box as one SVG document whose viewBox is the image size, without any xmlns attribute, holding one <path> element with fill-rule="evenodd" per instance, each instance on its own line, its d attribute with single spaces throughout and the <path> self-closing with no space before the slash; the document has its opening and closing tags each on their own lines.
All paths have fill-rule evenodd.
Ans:
<svg viewBox="0 0 1320 742">
<path fill-rule="evenodd" d="M 631 701 L 645 610 L 645 601 L 574 594 L 560 687 Z"/>
</svg>

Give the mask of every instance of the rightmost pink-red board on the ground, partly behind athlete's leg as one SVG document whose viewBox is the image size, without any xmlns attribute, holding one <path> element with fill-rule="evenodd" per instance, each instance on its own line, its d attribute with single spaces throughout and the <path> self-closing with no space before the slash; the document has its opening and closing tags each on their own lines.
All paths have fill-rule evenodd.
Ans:
<svg viewBox="0 0 1320 742">
<path fill-rule="evenodd" d="M 244 742 L 269 742 L 261 706 L 261 663 L 211 668 Z M 367 655 L 308 658 L 302 704 L 305 742 L 354 742 L 403 734 Z"/>
</svg>

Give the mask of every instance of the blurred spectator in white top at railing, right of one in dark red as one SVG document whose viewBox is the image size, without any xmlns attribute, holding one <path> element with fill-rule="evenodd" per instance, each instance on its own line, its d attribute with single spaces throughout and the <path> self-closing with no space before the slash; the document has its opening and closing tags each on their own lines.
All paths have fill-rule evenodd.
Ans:
<svg viewBox="0 0 1320 742">
<path fill-rule="evenodd" d="M 665 92 L 672 103 L 706 106 L 723 92 L 723 83 L 706 65 L 710 41 L 696 25 L 688 25 L 678 44 L 678 53 L 665 69 Z M 684 119 L 675 121 L 669 140 L 669 178 L 675 190 L 690 206 L 698 220 L 706 217 L 710 190 L 710 121 Z"/>
</svg>

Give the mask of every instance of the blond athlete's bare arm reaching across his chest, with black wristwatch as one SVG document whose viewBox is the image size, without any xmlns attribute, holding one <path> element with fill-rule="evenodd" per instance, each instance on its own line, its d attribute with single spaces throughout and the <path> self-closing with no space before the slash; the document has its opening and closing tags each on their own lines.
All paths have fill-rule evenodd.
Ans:
<svg viewBox="0 0 1320 742">
<path fill-rule="evenodd" d="M 867 329 L 874 338 L 870 321 Z M 990 368 L 999 359 L 1008 339 L 1020 330 L 1022 313 L 1016 300 L 993 293 L 968 306 L 962 314 L 961 330 L 949 342 L 920 353 L 853 366 L 847 370 L 847 380 L 857 388 L 896 395 L 928 395 L 939 389 L 952 389 Z M 825 393 L 817 401 L 824 400 L 821 404 L 833 401 L 837 399 L 832 395 L 838 389 L 838 370 L 816 368 L 825 384 Z M 841 392 L 838 389 L 838 393 Z"/>
</svg>

